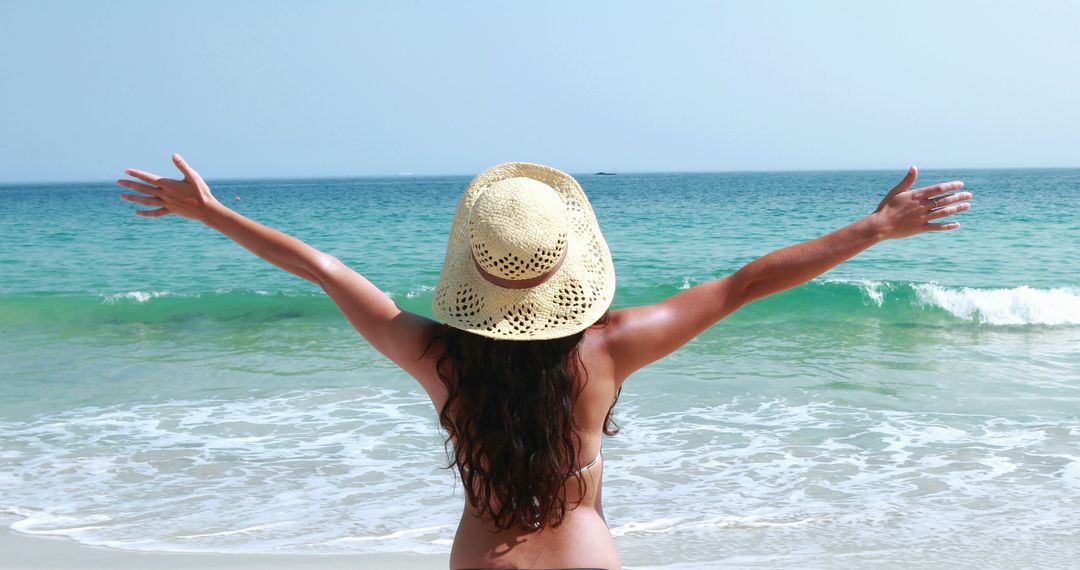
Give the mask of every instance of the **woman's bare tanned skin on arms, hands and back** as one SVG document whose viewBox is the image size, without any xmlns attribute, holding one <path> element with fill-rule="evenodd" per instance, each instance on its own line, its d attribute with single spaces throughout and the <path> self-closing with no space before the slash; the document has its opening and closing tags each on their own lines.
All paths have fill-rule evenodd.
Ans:
<svg viewBox="0 0 1080 570">
<path fill-rule="evenodd" d="M 438 323 L 403 311 L 334 256 L 229 209 L 179 154 L 173 155 L 173 162 L 181 178 L 129 169 L 126 174 L 137 181 L 117 180 L 138 192 L 120 198 L 153 207 L 136 211 L 136 215 L 176 215 L 202 222 L 270 263 L 319 285 L 361 336 L 420 383 L 436 412 L 442 409 L 446 390 L 434 368 L 438 351 L 428 350 Z M 635 370 L 671 354 L 741 307 L 801 285 L 877 243 L 959 228 L 956 221 L 935 220 L 970 207 L 971 193 L 959 191 L 963 182 L 913 189 L 917 176 L 916 168 L 910 167 L 877 209 L 854 223 L 773 252 L 731 275 L 702 283 L 656 304 L 612 311 L 606 326 L 589 328 L 579 348 L 585 368 L 581 372 L 588 374 L 589 382 L 582 382 L 575 407 L 581 436 L 579 463 L 596 457 L 608 407 Z M 467 506 L 454 541 L 450 567 L 619 568 L 619 555 L 600 504 L 602 478 L 603 462 L 586 473 L 584 494 L 578 496 L 575 486 L 567 487 L 567 499 L 580 499 L 581 503 L 558 528 L 495 532 Z"/>
</svg>

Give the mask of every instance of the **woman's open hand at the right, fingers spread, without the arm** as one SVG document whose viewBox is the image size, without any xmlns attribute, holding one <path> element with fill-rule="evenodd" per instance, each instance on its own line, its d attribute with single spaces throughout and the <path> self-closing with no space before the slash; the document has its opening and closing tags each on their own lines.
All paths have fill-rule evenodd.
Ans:
<svg viewBox="0 0 1080 570">
<path fill-rule="evenodd" d="M 881 240 L 908 238 L 928 231 L 955 230 L 960 222 L 932 220 L 959 214 L 971 207 L 971 192 L 957 192 L 963 182 L 956 180 L 912 189 L 918 169 L 912 166 L 907 176 L 886 194 L 867 221 Z"/>
</svg>

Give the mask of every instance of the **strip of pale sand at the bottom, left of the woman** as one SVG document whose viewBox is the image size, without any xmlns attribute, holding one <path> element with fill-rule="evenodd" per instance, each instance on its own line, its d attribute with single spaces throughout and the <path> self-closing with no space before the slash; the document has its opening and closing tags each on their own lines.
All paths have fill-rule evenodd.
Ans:
<svg viewBox="0 0 1080 570">
<path fill-rule="evenodd" d="M 447 556 L 430 555 L 269 555 L 186 554 L 119 551 L 84 546 L 57 537 L 30 537 L 4 530 L 0 533 L 0 569 L 3 570 L 214 570 L 270 569 L 440 569 L 449 567 Z"/>
</svg>

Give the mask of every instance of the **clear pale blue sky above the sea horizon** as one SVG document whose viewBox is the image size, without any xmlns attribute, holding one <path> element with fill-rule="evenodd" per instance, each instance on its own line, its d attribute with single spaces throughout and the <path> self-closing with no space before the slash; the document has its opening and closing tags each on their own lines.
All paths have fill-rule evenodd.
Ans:
<svg viewBox="0 0 1080 570">
<path fill-rule="evenodd" d="M 1080 2 L 0 0 L 0 181 L 1080 166 Z"/>
</svg>

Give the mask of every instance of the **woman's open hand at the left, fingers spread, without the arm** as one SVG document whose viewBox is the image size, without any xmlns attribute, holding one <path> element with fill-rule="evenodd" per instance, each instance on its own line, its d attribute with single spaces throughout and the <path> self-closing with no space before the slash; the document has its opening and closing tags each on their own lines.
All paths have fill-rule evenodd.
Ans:
<svg viewBox="0 0 1080 570">
<path fill-rule="evenodd" d="M 125 174 L 138 178 L 146 184 L 135 180 L 120 179 L 117 185 L 141 192 L 148 195 L 120 194 L 120 198 L 129 202 L 141 204 L 144 206 L 158 206 L 157 209 L 137 209 L 136 216 L 156 218 L 176 214 L 184 218 L 199 221 L 206 221 L 207 216 L 215 209 L 220 208 L 221 203 L 211 193 L 210 187 L 199 176 L 179 154 L 173 154 L 173 164 L 184 174 L 183 180 L 164 178 L 157 174 L 129 168 Z"/>
</svg>

